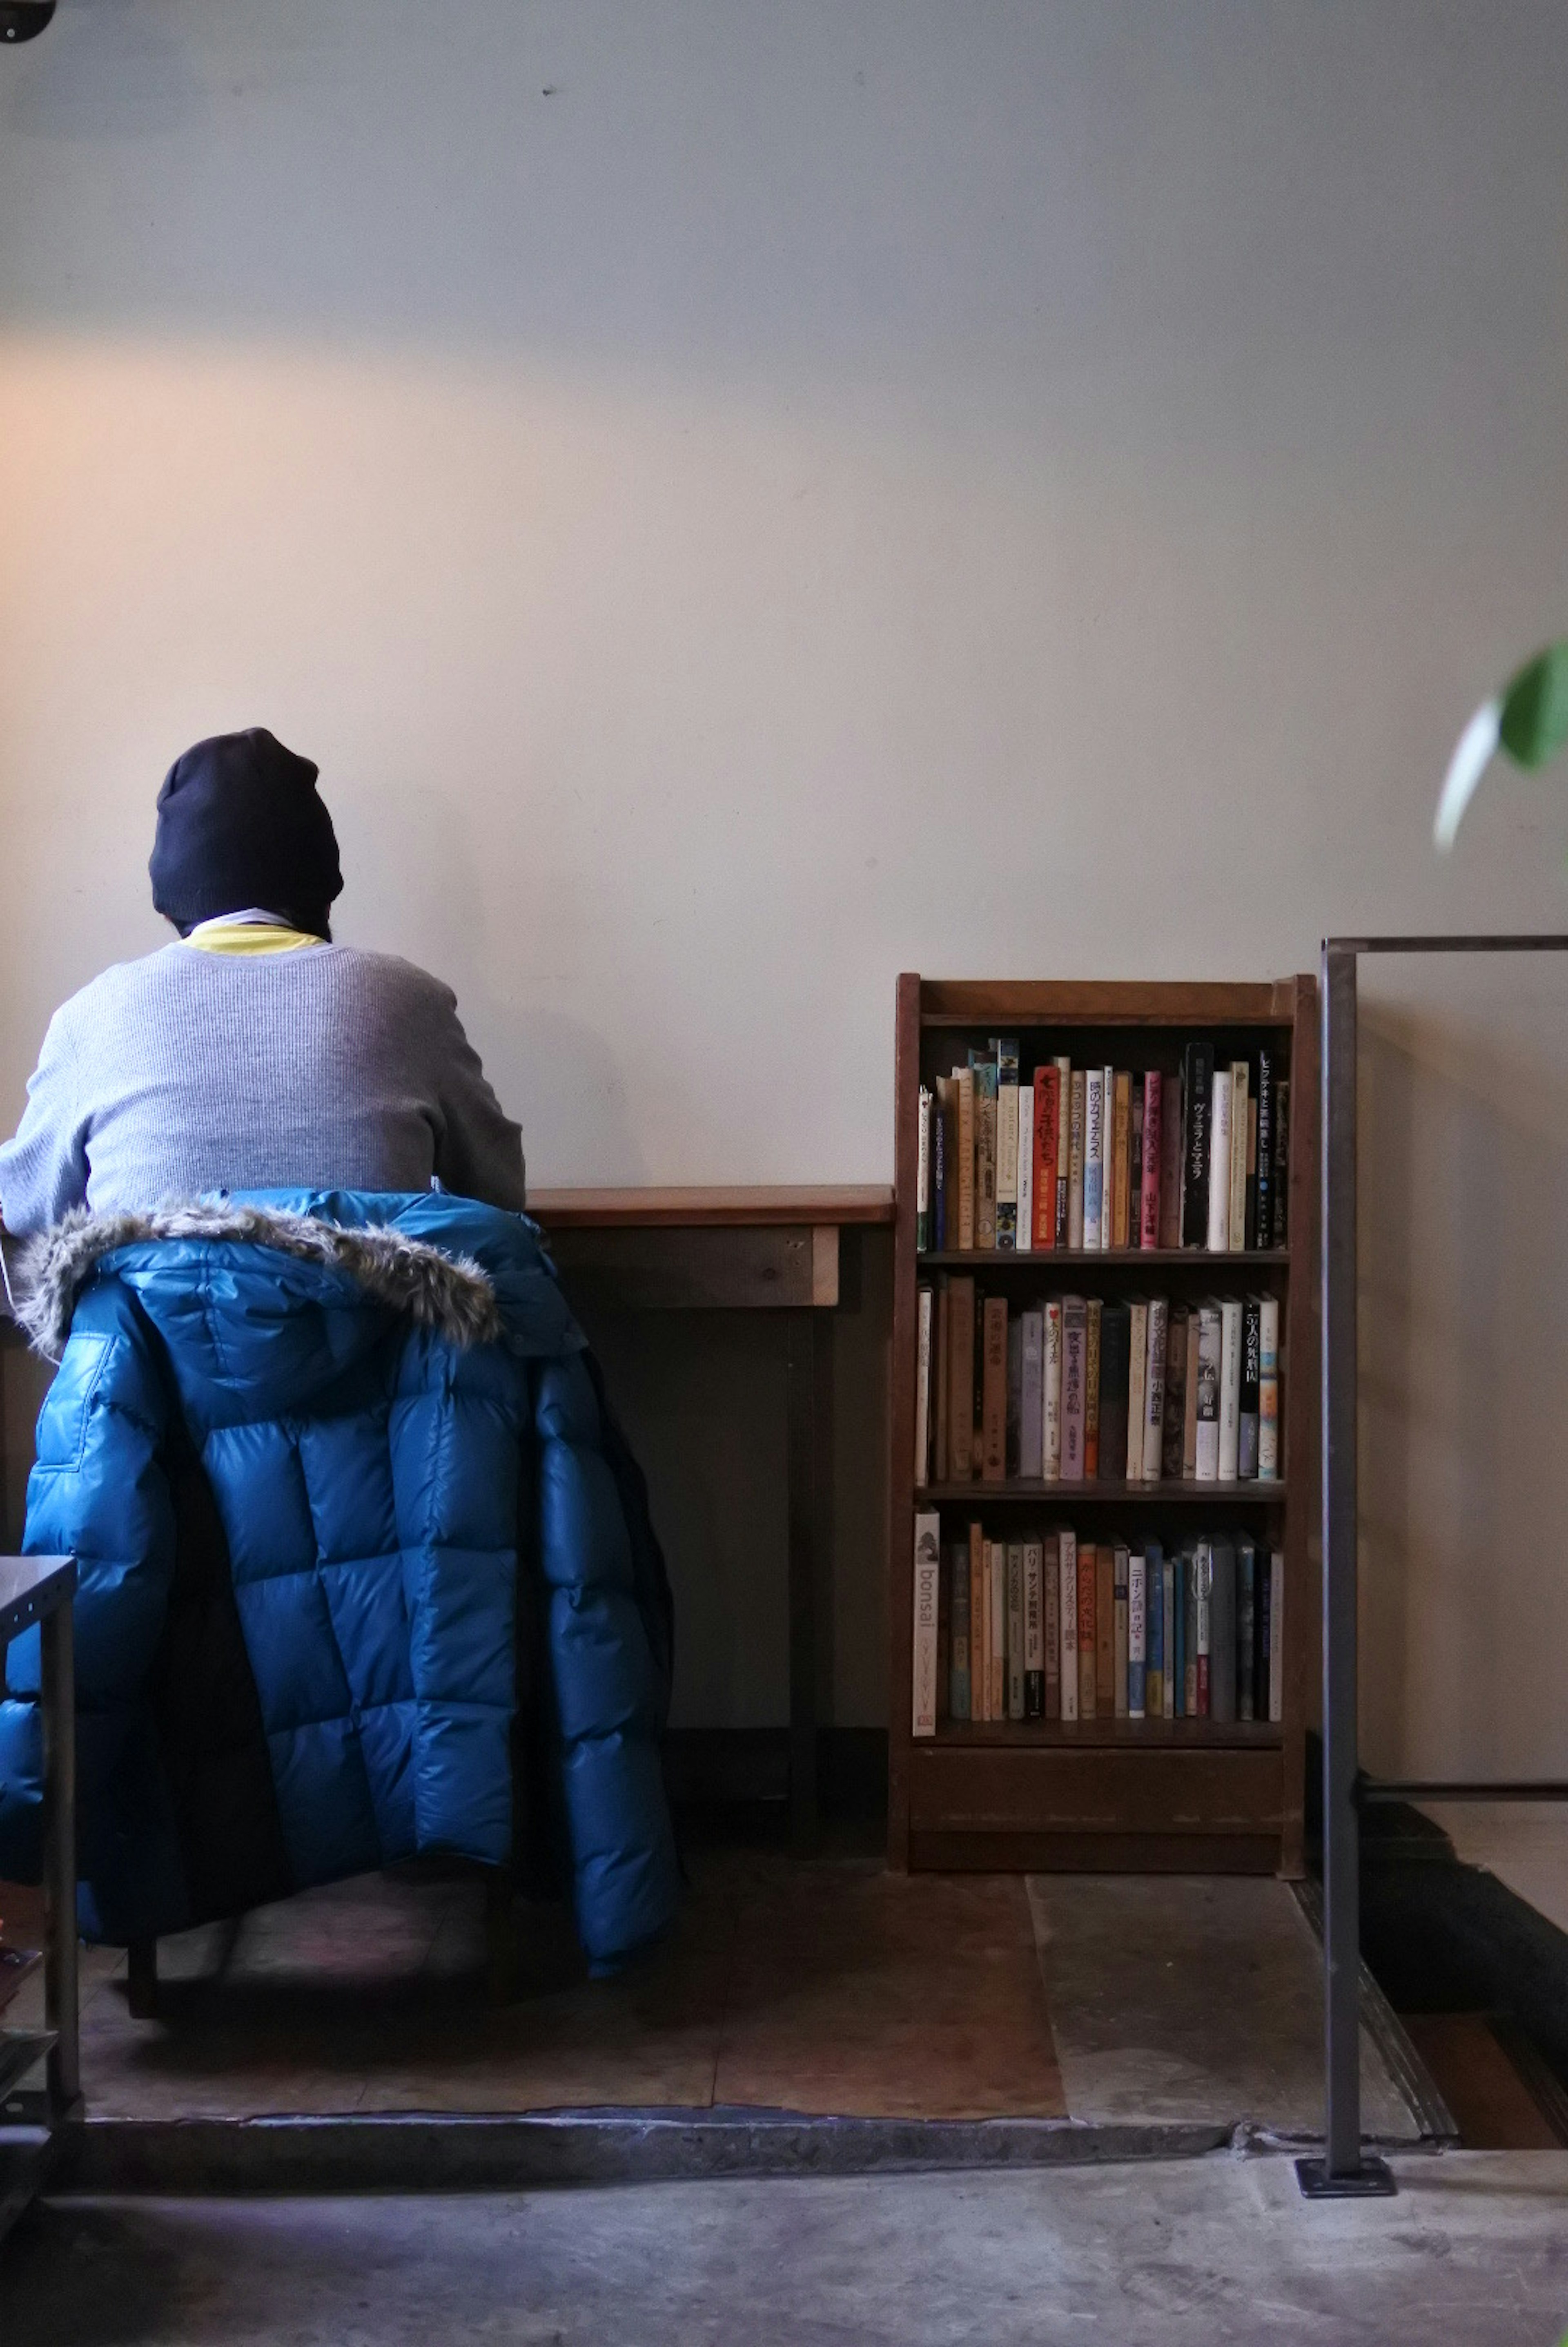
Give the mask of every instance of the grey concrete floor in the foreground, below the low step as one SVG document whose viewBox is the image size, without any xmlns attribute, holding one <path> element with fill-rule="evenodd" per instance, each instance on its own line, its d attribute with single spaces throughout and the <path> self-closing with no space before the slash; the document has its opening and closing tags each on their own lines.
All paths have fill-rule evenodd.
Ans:
<svg viewBox="0 0 1568 2347">
<path fill-rule="evenodd" d="M 465 2199 L 54 2201 L 0 2253 L 5 2347 L 1545 2347 L 1568 2155 L 1394 2162 L 1305 2204 L 1279 2157 Z"/>
</svg>

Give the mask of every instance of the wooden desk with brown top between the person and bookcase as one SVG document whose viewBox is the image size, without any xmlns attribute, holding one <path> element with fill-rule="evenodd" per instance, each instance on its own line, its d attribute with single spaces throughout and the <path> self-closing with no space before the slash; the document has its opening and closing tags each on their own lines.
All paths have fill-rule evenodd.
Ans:
<svg viewBox="0 0 1568 2347">
<path fill-rule="evenodd" d="M 840 1235 L 892 1223 L 892 1190 L 535 1190 L 561 1279 L 603 1312 L 784 1312 L 789 1345 L 789 1824 L 817 1838 L 817 1727 L 831 1706 L 833 1331 Z"/>
</svg>

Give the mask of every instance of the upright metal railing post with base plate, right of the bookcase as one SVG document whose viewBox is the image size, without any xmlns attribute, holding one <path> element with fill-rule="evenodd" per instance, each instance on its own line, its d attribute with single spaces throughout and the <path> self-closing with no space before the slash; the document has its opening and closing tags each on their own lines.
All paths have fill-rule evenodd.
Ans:
<svg viewBox="0 0 1568 2347">
<path fill-rule="evenodd" d="M 1357 1817 L 1357 955 L 1322 965 L 1324 1305 L 1324 2068 L 1326 2145 L 1298 2159 L 1307 2199 L 1383 2194 L 1361 2157 L 1361 1835 Z"/>
</svg>

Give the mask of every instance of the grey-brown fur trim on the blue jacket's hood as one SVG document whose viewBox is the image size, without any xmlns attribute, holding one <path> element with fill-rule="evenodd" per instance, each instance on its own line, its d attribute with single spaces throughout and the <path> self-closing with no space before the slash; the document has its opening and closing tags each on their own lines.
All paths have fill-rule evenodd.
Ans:
<svg viewBox="0 0 1568 2347">
<path fill-rule="evenodd" d="M 472 1256 L 451 1256 L 385 1223 L 343 1227 L 310 1213 L 230 1202 L 157 1206 L 150 1213 L 92 1213 L 80 1206 L 31 1239 L 16 1260 L 14 1312 L 28 1342 L 59 1361 L 80 1289 L 106 1256 L 157 1242 L 270 1246 L 300 1263 L 347 1274 L 376 1303 L 434 1328 L 451 1345 L 493 1345 L 502 1333 L 491 1274 Z"/>
</svg>

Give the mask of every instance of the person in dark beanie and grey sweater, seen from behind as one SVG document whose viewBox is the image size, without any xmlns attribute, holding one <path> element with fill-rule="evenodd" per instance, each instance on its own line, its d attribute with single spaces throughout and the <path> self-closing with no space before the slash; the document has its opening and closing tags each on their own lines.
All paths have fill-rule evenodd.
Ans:
<svg viewBox="0 0 1568 2347">
<path fill-rule="evenodd" d="M 439 979 L 338 946 L 317 767 L 263 725 L 197 742 L 157 793 L 155 908 L 181 941 L 49 1021 L 0 1148 L 16 1237 L 77 1206 L 211 1190 L 430 1190 L 523 1209 L 521 1129 Z"/>
</svg>

